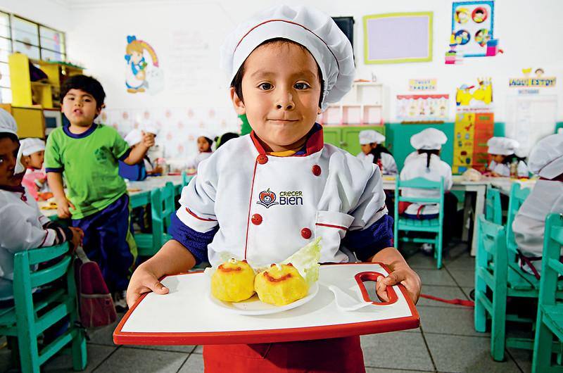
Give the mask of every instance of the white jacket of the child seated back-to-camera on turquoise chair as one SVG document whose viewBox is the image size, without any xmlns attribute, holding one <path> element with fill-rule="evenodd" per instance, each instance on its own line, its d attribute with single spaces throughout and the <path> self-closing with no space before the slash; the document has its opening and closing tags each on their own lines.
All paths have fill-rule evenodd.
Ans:
<svg viewBox="0 0 563 373">
<path fill-rule="evenodd" d="M 430 156 L 430 165 L 426 167 L 427 157 L 426 153 L 409 156 L 408 158 L 410 158 L 410 160 L 408 163 L 405 163 L 403 170 L 400 172 L 400 179 L 410 180 L 416 179 L 417 177 L 424 177 L 424 179 L 438 182 L 441 177 L 443 177 L 444 191 L 452 189 L 452 167 L 441 160 L 439 156 L 436 156 L 436 154 Z M 404 188 L 401 193 L 406 197 L 418 198 L 438 198 L 440 196 L 439 191 L 431 189 Z M 421 206 L 425 206 L 425 208 L 420 210 L 420 214 L 422 215 L 434 215 L 438 213 L 438 207 L 436 205 L 426 203 L 412 203 L 412 205 L 405 210 L 405 213 L 417 215 Z"/>
</svg>

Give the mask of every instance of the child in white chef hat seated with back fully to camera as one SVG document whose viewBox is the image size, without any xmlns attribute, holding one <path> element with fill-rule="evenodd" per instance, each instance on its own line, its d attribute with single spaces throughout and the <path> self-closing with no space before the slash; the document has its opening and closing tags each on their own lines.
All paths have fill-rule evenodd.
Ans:
<svg viewBox="0 0 563 373">
<path fill-rule="evenodd" d="M 410 144 L 417 149 L 417 155 L 411 156 L 400 172 L 401 180 L 416 179 L 424 177 L 433 182 L 440 181 L 443 177 L 444 191 L 450 191 L 453 185 L 452 167 L 440 159 L 442 145 L 448 141 L 448 137 L 435 128 L 427 128 L 410 138 Z M 401 192 L 403 196 L 419 198 L 436 198 L 439 192 L 428 189 L 405 188 Z M 457 209 L 457 198 L 451 193 L 444 195 L 444 241 L 447 242 L 452 230 L 452 220 Z M 439 206 L 429 203 L 412 203 L 406 208 L 400 206 L 399 213 L 412 219 L 433 219 L 438 217 Z M 446 238 L 448 236 L 448 238 Z M 429 251 L 431 246 L 424 244 L 423 249 Z"/>
</svg>

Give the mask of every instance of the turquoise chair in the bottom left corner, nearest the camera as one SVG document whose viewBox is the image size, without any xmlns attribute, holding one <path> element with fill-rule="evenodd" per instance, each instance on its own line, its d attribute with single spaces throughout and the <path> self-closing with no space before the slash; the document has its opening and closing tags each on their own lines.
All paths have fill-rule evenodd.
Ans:
<svg viewBox="0 0 563 373">
<path fill-rule="evenodd" d="M 58 257 L 60 260 L 56 264 L 42 270 L 31 269 Z M 37 296 L 32 295 L 33 289 L 63 277 L 66 286 L 62 289 L 42 289 Z M 46 360 L 69 343 L 72 367 L 83 370 L 87 364 L 86 339 L 84 331 L 75 326 L 78 321 L 75 271 L 68 244 L 15 253 L 13 295 L 15 306 L 0 310 L 0 334 L 18 339 L 22 372 L 39 372 Z M 68 329 L 39 349 L 37 337 L 67 316 Z"/>
</svg>

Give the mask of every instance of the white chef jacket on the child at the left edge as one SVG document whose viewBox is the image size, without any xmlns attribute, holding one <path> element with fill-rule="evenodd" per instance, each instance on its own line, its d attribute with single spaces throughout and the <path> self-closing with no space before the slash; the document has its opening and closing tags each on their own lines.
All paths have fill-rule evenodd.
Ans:
<svg viewBox="0 0 563 373">
<path fill-rule="evenodd" d="M 43 228 L 48 222 L 27 189 L 0 189 L 0 300 L 13 297 L 13 255 L 55 243 L 56 231 Z"/>
</svg>

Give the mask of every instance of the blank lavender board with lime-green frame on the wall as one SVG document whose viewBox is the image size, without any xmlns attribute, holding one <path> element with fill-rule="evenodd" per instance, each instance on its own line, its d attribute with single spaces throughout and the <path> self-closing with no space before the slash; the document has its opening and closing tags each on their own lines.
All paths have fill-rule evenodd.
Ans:
<svg viewBox="0 0 563 373">
<path fill-rule="evenodd" d="M 405 63 L 432 61 L 433 12 L 366 15 L 364 61 Z"/>
</svg>

